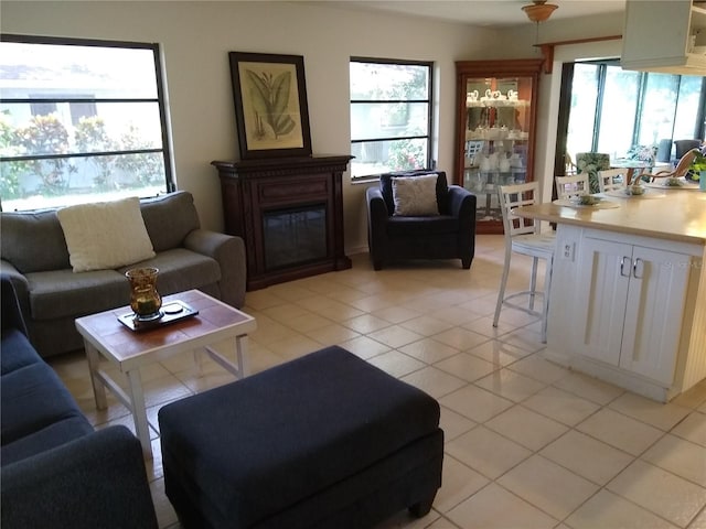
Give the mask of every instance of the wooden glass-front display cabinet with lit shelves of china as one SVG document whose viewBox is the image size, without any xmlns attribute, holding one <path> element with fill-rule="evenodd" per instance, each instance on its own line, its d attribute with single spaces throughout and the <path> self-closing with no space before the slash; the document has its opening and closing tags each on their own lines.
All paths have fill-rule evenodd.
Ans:
<svg viewBox="0 0 706 529">
<path fill-rule="evenodd" d="M 454 182 L 478 197 L 477 233 L 502 234 L 498 186 L 534 180 L 543 60 L 459 61 Z"/>
</svg>

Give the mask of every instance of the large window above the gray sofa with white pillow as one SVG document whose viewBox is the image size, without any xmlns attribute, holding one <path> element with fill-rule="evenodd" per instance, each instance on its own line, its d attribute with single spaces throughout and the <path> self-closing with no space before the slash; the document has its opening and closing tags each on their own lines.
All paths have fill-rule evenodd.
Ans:
<svg viewBox="0 0 706 529">
<path fill-rule="evenodd" d="M 157 44 L 2 35 L 6 210 L 173 191 Z"/>
</svg>

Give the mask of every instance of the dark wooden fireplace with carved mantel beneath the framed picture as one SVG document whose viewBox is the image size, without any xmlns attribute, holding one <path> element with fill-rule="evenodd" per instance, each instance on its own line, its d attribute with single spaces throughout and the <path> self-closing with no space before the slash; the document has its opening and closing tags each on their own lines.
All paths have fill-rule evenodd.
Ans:
<svg viewBox="0 0 706 529">
<path fill-rule="evenodd" d="M 351 158 L 211 162 L 221 179 L 225 231 L 245 241 L 247 290 L 351 268 L 342 187 Z M 299 239 L 301 251 L 292 247 Z"/>
</svg>

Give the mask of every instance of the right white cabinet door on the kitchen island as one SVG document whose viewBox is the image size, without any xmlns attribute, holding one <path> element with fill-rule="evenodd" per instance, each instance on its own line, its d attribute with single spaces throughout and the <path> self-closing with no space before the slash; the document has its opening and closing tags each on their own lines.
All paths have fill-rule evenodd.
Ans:
<svg viewBox="0 0 706 529">
<path fill-rule="evenodd" d="M 689 258 L 635 246 L 620 367 L 672 384 L 688 283 Z"/>
</svg>

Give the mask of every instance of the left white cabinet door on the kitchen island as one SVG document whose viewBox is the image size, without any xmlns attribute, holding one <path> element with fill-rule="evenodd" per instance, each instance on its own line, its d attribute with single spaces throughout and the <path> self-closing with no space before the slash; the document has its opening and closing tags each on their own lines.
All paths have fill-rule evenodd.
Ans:
<svg viewBox="0 0 706 529">
<path fill-rule="evenodd" d="M 631 256 L 630 245 L 587 237 L 579 258 L 573 345 L 584 356 L 616 366 L 620 361 Z"/>
</svg>

